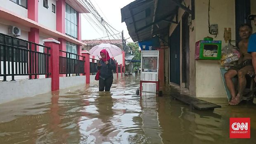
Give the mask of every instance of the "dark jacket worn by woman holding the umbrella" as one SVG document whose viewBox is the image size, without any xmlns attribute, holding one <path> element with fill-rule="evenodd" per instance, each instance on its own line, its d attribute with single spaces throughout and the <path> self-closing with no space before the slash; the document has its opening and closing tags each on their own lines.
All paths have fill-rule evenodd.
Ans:
<svg viewBox="0 0 256 144">
<path fill-rule="evenodd" d="M 97 66 L 97 69 L 100 70 L 100 78 L 109 78 L 113 76 L 113 71 L 116 71 L 116 63 L 113 59 L 108 60 L 108 64 L 106 65 L 104 61 L 100 60 L 100 64 L 102 66 Z"/>
</svg>

